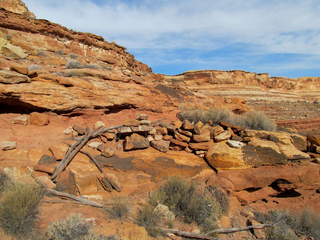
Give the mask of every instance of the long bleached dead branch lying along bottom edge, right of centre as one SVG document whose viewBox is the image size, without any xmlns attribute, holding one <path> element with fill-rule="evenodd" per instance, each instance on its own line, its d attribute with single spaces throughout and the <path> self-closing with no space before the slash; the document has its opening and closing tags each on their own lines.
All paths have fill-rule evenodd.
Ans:
<svg viewBox="0 0 320 240">
<path fill-rule="evenodd" d="M 204 234 L 199 234 L 199 233 L 194 233 L 194 232 L 187 232 L 187 231 L 179 231 L 177 229 L 167 229 L 167 228 L 162 228 L 162 227 L 156 227 L 158 229 L 161 229 L 162 231 L 166 232 L 166 233 L 173 233 L 175 235 L 179 235 L 179 236 L 188 236 L 188 237 L 194 237 L 194 238 L 198 238 L 198 239 L 213 239 L 213 240 L 219 240 L 220 238 L 217 237 L 212 237 L 209 236 L 212 233 L 232 233 L 232 232 L 236 232 L 236 231 L 244 231 L 244 230 L 248 230 L 251 228 L 263 228 L 266 226 L 274 226 L 277 225 L 279 222 L 276 222 L 274 224 L 258 224 L 258 225 L 251 225 L 251 226 L 245 226 L 245 227 L 237 227 L 237 228 L 227 228 L 227 229 L 216 229 L 216 230 L 211 230 L 208 231 Z"/>
</svg>

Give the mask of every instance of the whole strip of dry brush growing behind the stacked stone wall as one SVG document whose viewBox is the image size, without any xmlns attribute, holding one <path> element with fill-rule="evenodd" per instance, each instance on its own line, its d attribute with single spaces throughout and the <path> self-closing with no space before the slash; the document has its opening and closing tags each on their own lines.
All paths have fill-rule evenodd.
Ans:
<svg viewBox="0 0 320 240">
<path fill-rule="evenodd" d="M 242 125 L 245 128 L 253 130 L 266 130 L 274 131 L 276 125 L 261 111 L 248 111 L 243 115 L 233 113 L 230 109 L 220 108 L 209 108 L 204 110 L 201 107 L 180 107 L 180 112 L 177 117 L 183 121 L 188 120 L 190 122 L 202 121 L 207 123 L 209 120 L 212 121 L 213 125 L 217 125 L 219 121 L 226 121 L 233 125 Z"/>
</svg>

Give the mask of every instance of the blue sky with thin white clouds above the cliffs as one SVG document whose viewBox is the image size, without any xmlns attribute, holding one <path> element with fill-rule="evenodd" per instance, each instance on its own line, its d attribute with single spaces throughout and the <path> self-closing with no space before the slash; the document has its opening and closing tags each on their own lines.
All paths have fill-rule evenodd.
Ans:
<svg viewBox="0 0 320 240">
<path fill-rule="evenodd" d="M 319 0 L 22 0 L 37 18 L 101 35 L 153 72 L 320 76 Z"/>
</svg>

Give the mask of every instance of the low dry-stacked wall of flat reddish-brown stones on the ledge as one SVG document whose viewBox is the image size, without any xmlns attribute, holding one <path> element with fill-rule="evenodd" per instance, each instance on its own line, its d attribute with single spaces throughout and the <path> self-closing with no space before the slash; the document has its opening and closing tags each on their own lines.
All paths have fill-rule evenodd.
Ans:
<svg viewBox="0 0 320 240">
<path fill-rule="evenodd" d="M 204 156 L 213 142 L 227 140 L 231 147 L 241 147 L 242 142 L 253 140 L 255 133 L 242 126 L 234 126 L 221 121 L 213 126 L 212 121 L 204 124 L 180 120 L 161 121 L 151 126 L 148 116 L 136 113 L 135 119 L 126 119 L 123 126 L 118 129 L 120 135 L 125 136 L 124 150 L 142 149 L 149 146 L 166 152 L 169 149 L 193 152 L 200 157 Z"/>
</svg>

